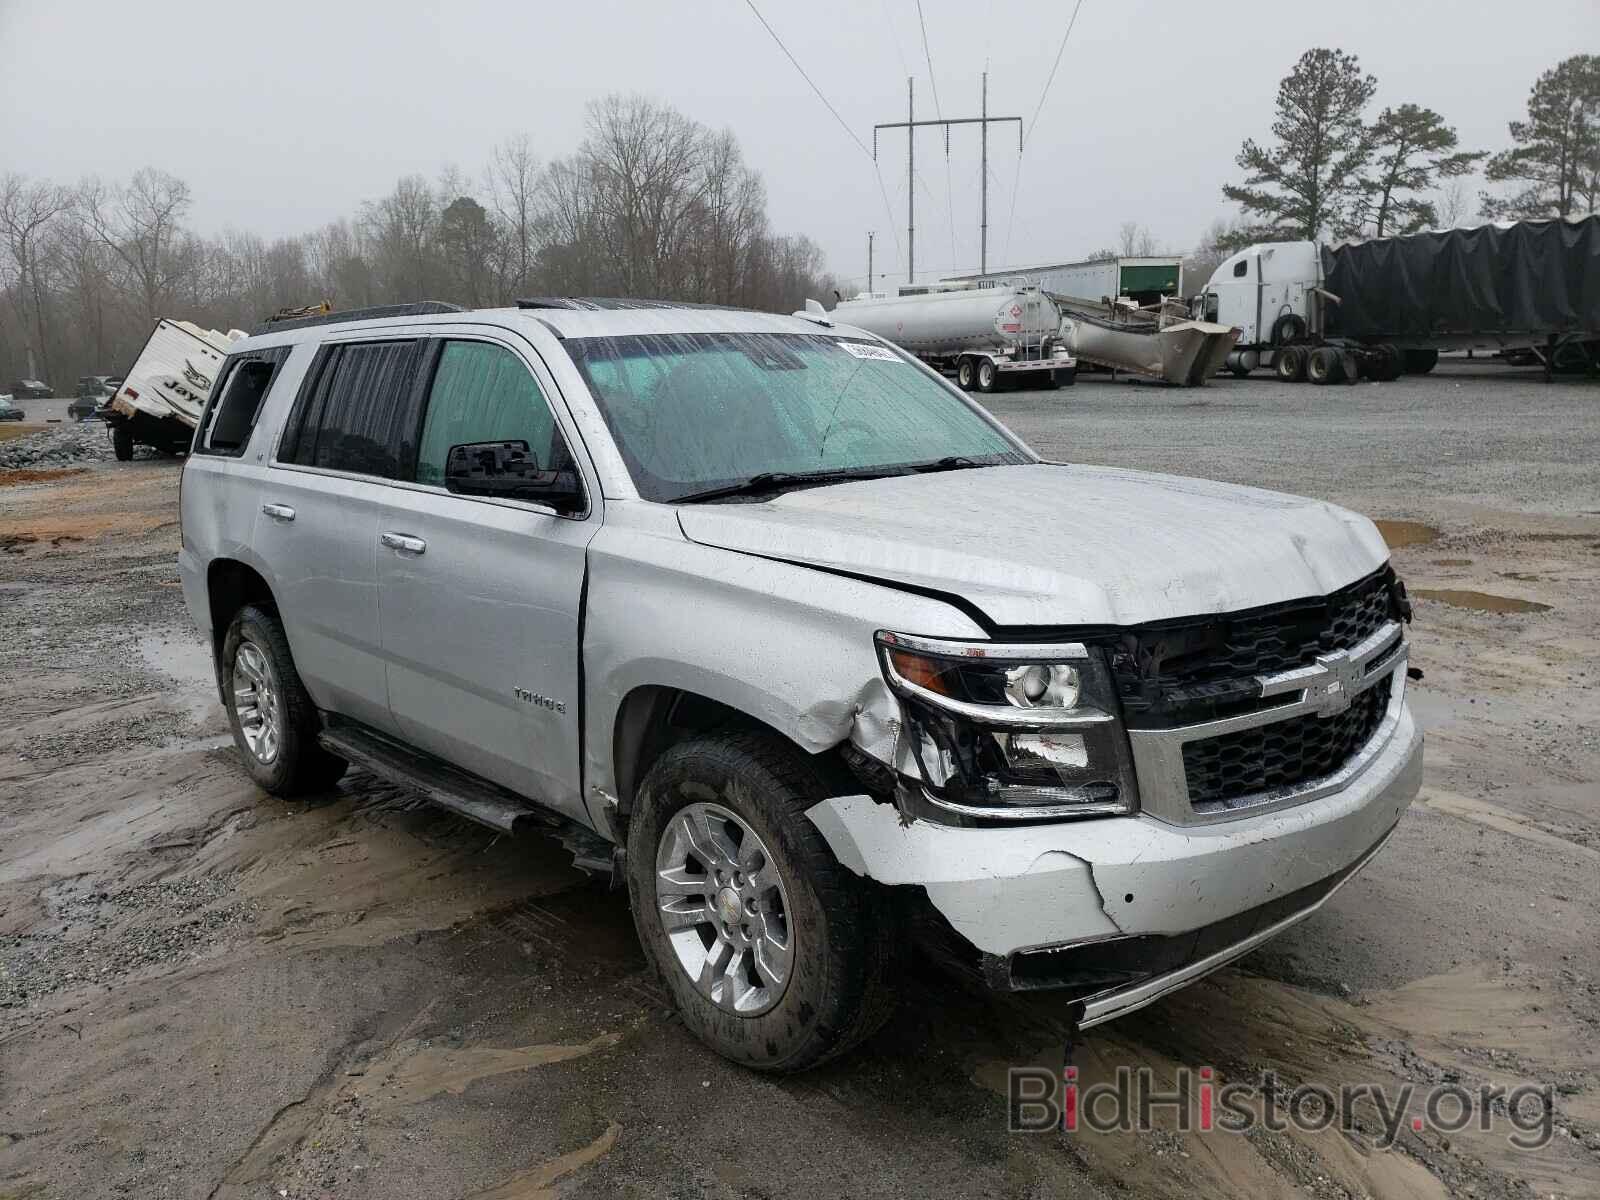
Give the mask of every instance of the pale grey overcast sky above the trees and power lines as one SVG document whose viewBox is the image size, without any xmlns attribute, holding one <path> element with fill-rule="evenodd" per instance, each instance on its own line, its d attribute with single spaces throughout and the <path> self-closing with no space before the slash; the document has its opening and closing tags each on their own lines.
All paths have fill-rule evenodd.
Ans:
<svg viewBox="0 0 1600 1200">
<path fill-rule="evenodd" d="M 875 122 L 906 118 L 907 74 L 917 115 L 934 115 L 915 0 L 755 5 L 869 147 Z M 1034 117 L 1072 0 L 922 10 L 944 115 L 976 115 L 987 64 L 989 112 Z M 1278 78 L 1309 46 L 1360 56 L 1373 115 L 1426 104 L 1466 147 L 1501 149 L 1538 74 L 1597 35 L 1595 0 L 1085 0 L 1021 173 L 1016 134 L 990 134 L 990 267 L 1080 258 L 1123 221 L 1192 246 L 1229 214 L 1238 144 L 1267 136 Z M 904 131 L 880 139 L 886 206 L 870 157 L 746 0 L 0 0 L 0 171 L 160 166 L 189 181 L 203 232 L 304 232 L 406 173 L 477 176 L 523 131 L 542 157 L 568 154 L 608 91 L 731 128 L 779 232 L 810 234 L 850 278 L 875 229 L 878 272 L 904 278 Z M 952 134 L 949 166 L 939 131 L 918 133 L 917 176 L 918 278 L 976 269 L 976 130 Z"/>
</svg>

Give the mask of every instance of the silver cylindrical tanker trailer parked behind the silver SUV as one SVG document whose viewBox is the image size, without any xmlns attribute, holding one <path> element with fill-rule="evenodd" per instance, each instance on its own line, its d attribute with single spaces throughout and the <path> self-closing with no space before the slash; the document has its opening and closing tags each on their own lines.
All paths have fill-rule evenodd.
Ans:
<svg viewBox="0 0 1600 1200">
<path fill-rule="evenodd" d="M 838 320 L 954 374 L 966 392 L 992 392 L 1005 379 L 1056 387 L 1077 378 L 1077 360 L 1061 338 L 1066 314 L 1034 286 L 875 291 L 840 301 L 837 312 Z"/>
</svg>

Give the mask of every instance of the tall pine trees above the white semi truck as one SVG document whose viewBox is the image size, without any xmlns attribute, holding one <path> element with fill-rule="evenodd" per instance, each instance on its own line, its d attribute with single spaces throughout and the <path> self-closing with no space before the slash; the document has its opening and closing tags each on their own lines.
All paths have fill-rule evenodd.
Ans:
<svg viewBox="0 0 1600 1200">
<path fill-rule="evenodd" d="M 1421 104 L 1368 120 L 1378 78 L 1355 54 L 1307 50 L 1278 83 L 1272 141 L 1246 138 L 1238 184 L 1222 194 L 1242 219 L 1213 226 L 1213 250 L 1250 242 L 1411 234 L 1467 216 L 1461 181 L 1480 165 L 1483 219 L 1568 218 L 1600 205 L 1600 56 L 1573 54 L 1546 70 L 1528 114 L 1509 123 L 1510 147 L 1461 149 L 1454 128 Z M 1200 253 L 1205 253 L 1202 246 Z"/>
</svg>

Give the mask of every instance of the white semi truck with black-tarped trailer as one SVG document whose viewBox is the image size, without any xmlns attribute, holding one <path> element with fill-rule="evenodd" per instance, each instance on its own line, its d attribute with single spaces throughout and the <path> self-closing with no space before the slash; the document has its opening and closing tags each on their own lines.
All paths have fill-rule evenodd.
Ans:
<svg viewBox="0 0 1600 1200">
<path fill-rule="evenodd" d="M 1600 338 L 1600 218 L 1518 221 L 1331 246 L 1258 243 L 1190 312 L 1243 333 L 1227 368 L 1314 384 L 1434 370 L 1440 350 L 1523 349 L 1547 366 Z"/>
</svg>

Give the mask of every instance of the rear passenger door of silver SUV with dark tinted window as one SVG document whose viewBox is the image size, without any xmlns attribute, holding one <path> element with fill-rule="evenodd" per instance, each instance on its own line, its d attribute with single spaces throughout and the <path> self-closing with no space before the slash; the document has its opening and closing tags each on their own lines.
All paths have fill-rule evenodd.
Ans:
<svg viewBox="0 0 1600 1200">
<path fill-rule="evenodd" d="M 262 482 L 254 533 L 312 699 L 389 733 L 378 522 L 416 424 L 421 350 L 416 338 L 318 349 Z"/>
</svg>

